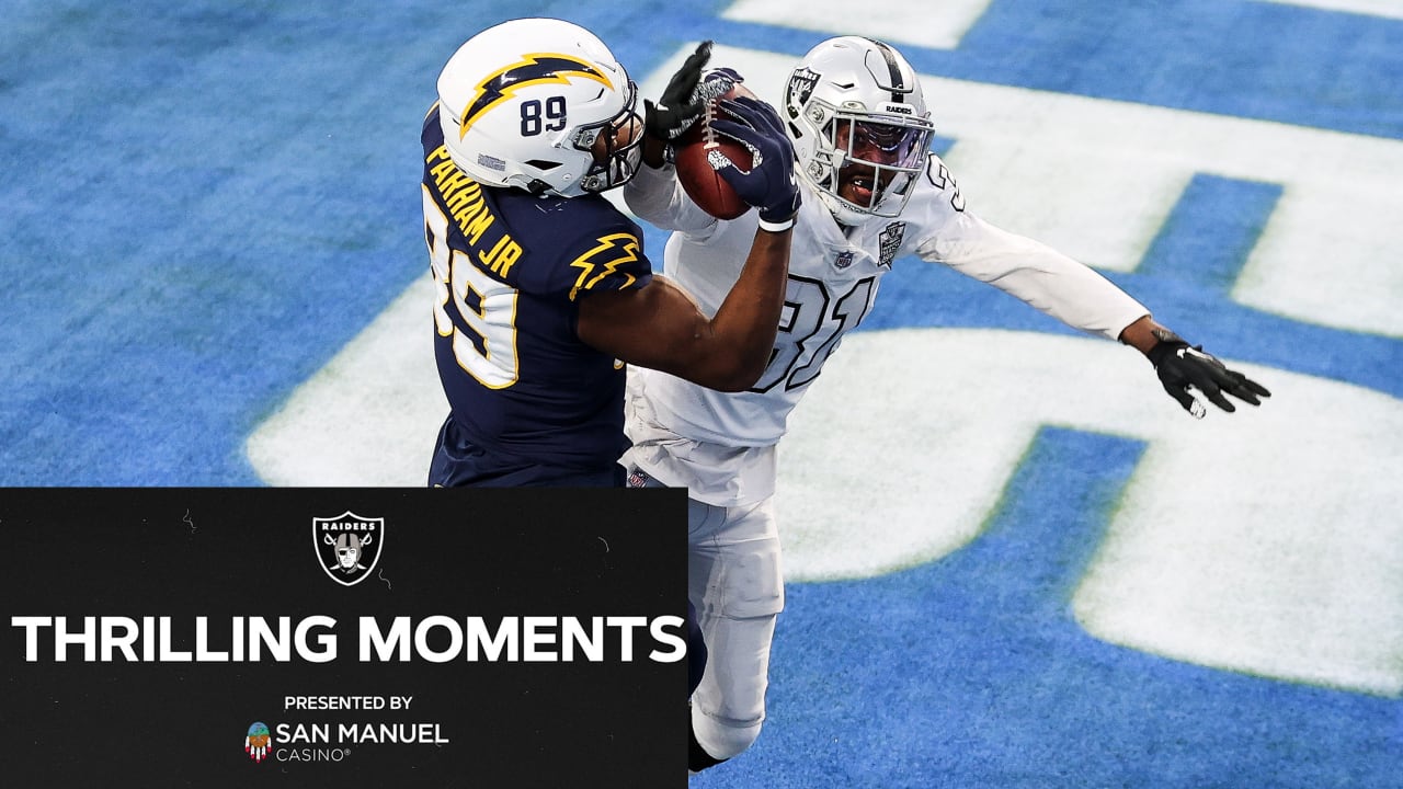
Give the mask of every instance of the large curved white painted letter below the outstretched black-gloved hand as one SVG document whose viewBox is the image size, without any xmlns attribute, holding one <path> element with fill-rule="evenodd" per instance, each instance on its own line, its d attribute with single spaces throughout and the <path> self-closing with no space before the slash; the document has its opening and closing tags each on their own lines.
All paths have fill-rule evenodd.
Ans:
<svg viewBox="0 0 1403 789">
<path fill-rule="evenodd" d="M 1092 635 L 1399 695 L 1403 403 L 1232 366 L 1275 397 L 1195 421 L 1104 340 L 849 336 L 780 445 L 786 574 L 861 578 L 946 556 L 978 536 L 1040 425 L 1122 435 L 1149 445 L 1073 599 Z"/>
</svg>

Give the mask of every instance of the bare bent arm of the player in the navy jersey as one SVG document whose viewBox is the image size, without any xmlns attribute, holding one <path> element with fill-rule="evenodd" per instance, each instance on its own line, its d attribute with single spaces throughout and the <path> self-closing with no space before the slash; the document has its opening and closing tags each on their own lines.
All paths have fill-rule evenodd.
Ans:
<svg viewBox="0 0 1403 789">
<path fill-rule="evenodd" d="M 793 230 L 756 230 L 739 279 L 707 319 L 664 277 L 637 289 L 581 296 L 577 331 L 588 345 L 709 389 L 744 392 L 774 348 Z"/>
</svg>

